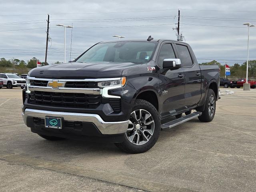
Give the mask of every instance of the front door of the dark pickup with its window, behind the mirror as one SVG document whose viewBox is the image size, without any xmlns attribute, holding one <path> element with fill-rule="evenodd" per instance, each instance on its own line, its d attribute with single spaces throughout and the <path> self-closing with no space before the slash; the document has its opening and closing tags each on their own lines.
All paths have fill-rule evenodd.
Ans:
<svg viewBox="0 0 256 192">
<path fill-rule="evenodd" d="M 177 70 L 162 68 L 164 59 L 173 58 L 177 58 L 173 44 L 171 42 L 163 42 L 158 53 L 162 117 L 184 109 L 184 70 L 182 68 Z"/>
</svg>

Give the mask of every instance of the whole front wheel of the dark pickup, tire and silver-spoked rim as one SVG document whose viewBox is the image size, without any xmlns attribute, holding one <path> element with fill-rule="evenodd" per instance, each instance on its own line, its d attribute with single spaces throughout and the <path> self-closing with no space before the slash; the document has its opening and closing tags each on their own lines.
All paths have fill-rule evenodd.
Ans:
<svg viewBox="0 0 256 192">
<path fill-rule="evenodd" d="M 158 111 L 150 102 L 137 99 L 132 108 L 124 141 L 115 145 L 127 153 L 143 153 L 154 146 L 159 134 Z"/>
</svg>

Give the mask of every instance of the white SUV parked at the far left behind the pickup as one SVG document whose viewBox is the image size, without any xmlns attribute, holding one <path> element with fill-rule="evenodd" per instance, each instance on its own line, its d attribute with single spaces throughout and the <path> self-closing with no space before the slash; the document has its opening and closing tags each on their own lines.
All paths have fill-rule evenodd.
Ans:
<svg viewBox="0 0 256 192">
<path fill-rule="evenodd" d="M 0 78 L 2 78 L 4 86 L 8 89 L 12 89 L 13 87 L 20 87 L 23 89 L 26 85 L 26 80 L 20 78 L 16 74 L 0 73 Z"/>
</svg>

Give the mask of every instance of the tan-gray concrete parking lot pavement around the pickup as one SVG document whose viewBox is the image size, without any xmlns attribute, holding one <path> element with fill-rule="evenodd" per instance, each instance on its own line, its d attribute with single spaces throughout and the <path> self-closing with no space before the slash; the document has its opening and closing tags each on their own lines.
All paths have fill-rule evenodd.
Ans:
<svg viewBox="0 0 256 192">
<path fill-rule="evenodd" d="M 256 89 L 222 90 L 235 94 L 221 96 L 212 122 L 191 120 L 162 131 L 148 152 L 126 154 L 114 144 L 40 138 L 22 122 L 22 90 L 3 88 L 0 188 L 256 191 Z M 20 188 L 25 183 L 26 188 Z"/>
</svg>

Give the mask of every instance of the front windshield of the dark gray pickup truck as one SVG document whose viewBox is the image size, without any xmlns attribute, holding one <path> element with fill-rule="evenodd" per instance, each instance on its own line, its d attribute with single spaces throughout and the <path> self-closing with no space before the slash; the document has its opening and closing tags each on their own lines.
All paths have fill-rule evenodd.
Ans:
<svg viewBox="0 0 256 192">
<path fill-rule="evenodd" d="M 146 63 L 158 42 L 110 42 L 96 44 L 76 62 Z"/>
</svg>

